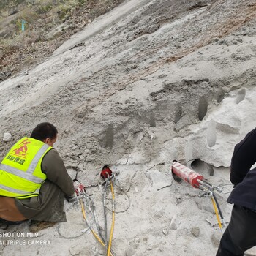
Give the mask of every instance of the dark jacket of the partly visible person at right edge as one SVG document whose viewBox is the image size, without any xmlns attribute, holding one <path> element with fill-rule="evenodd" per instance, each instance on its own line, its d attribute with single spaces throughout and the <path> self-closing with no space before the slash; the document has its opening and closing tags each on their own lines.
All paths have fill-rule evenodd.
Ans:
<svg viewBox="0 0 256 256">
<path fill-rule="evenodd" d="M 227 198 L 228 203 L 256 211 L 256 128 L 238 143 L 231 159 L 230 181 L 236 185 Z"/>
</svg>

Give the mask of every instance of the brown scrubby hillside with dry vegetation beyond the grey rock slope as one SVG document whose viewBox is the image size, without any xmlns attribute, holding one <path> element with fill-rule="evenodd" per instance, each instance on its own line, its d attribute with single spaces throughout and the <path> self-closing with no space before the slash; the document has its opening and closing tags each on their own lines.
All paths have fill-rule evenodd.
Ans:
<svg viewBox="0 0 256 256">
<path fill-rule="evenodd" d="M 122 1 L 20 1 L 17 7 L 9 8 L 13 14 L 1 10 L 0 81 L 26 74 L 27 69 L 45 61 L 72 34 Z M 21 20 L 25 20 L 24 31 Z"/>
</svg>

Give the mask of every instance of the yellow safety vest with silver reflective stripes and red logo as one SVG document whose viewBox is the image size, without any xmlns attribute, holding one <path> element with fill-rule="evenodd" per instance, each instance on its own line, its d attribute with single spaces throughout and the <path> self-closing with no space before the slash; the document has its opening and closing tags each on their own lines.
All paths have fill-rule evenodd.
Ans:
<svg viewBox="0 0 256 256">
<path fill-rule="evenodd" d="M 41 163 L 52 147 L 40 140 L 22 138 L 10 149 L 0 164 L 0 195 L 29 198 L 39 195 L 46 179 Z"/>
</svg>

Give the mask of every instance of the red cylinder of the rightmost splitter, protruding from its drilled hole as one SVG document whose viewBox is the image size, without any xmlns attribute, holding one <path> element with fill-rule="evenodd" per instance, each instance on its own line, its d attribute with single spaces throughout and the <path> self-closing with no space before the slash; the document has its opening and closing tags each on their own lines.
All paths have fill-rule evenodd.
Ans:
<svg viewBox="0 0 256 256">
<path fill-rule="evenodd" d="M 198 180 L 203 180 L 203 176 L 201 176 L 199 173 L 196 173 L 194 170 L 189 169 L 187 166 L 181 165 L 179 162 L 173 162 L 172 172 L 195 188 L 198 188 L 200 185 Z"/>
</svg>

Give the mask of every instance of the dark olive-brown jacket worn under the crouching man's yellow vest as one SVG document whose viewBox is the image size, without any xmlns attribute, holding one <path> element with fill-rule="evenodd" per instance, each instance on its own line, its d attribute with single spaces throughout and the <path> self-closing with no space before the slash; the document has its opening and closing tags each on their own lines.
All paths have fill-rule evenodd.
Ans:
<svg viewBox="0 0 256 256">
<path fill-rule="evenodd" d="M 71 196 L 75 193 L 72 178 L 55 149 L 45 154 L 41 167 L 47 179 L 42 184 L 39 196 L 15 199 L 15 204 L 26 219 L 48 222 L 66 221 L 66 214 L 63 211 L 64 195 Z"/>
</svg>

